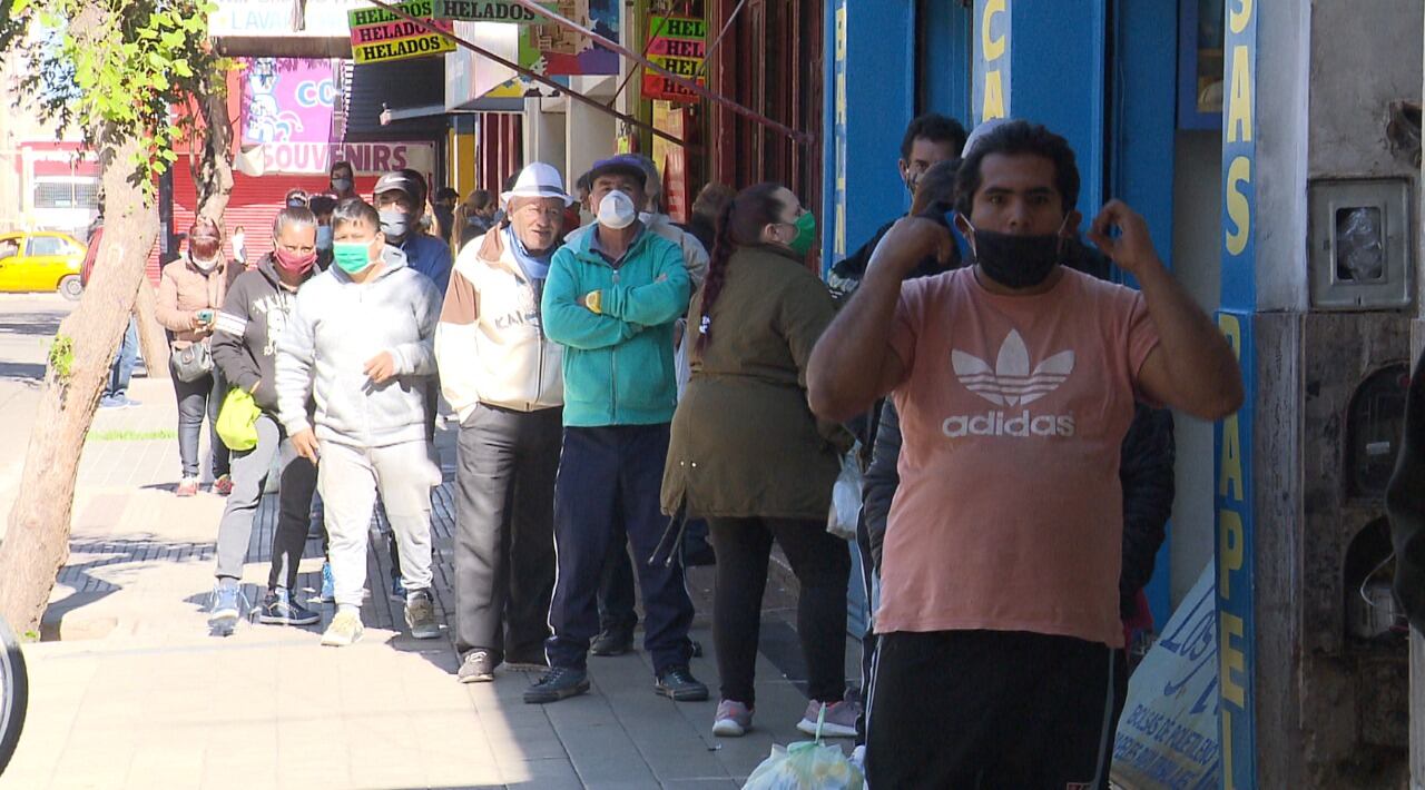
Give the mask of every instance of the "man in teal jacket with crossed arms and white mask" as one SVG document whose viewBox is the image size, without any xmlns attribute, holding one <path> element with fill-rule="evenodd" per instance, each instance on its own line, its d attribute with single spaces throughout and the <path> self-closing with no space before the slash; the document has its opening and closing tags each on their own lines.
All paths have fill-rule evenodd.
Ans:
<svg viewBox="0 0 1425 790">
<path fill-rule="evenodd" d="M 667 527 L 658 488 L 677 403 L 673 326 L 688 306 L 688 275 L 678 246 L 638 221 L 644 178 L 623 159 L 594 165 L 598 223 L 554 253 L 544 286 L 544 332 L 564 346 L 564 450 L 554 485 L 550 669 L 526 692 L 530 703 L 589 690 L 598 581 L 610 545 L 624 541 L 640 559 L 654 689 L 674 700 L 707 699 L 688 669 L 693 601 L 683 562 L 653 557 Z"/>
</svg>

